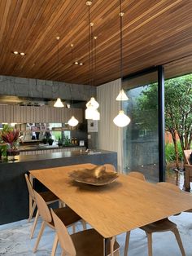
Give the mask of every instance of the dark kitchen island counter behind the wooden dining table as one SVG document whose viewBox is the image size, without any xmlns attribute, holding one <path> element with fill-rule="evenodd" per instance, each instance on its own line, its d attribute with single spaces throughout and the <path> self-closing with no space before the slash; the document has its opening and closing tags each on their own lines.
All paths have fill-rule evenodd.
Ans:
<svg viewBox="0 0 192 256">
<path fill-rule="evenodd" d="M 17 161 L 0 162 L 0 224 L 28 218 L 28 188 L 24 174 L 28 170 L 83 163 L 117 166 L 117 153 L 98 150 L 97 152 L 71 151 L 53 152 L 42 155 L 18 156 Z M 41 189 L 35 183 L 37 190 Z"/>
</svg>

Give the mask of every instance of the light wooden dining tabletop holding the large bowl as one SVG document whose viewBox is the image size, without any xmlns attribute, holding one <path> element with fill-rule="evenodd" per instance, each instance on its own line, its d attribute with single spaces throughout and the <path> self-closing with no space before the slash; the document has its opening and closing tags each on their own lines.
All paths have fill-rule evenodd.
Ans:
<svg viewBox="0 0 192 256">
<path fill-rule="evenodd" d="M 80 168 L 91 169 L 94 165 L 63 166 L 30 173 L 104 238 L 192 208 L 190 193 L 173 192 L 124 174 L 103 187 L 74 183 L 68 174 Z"/>
</svg>

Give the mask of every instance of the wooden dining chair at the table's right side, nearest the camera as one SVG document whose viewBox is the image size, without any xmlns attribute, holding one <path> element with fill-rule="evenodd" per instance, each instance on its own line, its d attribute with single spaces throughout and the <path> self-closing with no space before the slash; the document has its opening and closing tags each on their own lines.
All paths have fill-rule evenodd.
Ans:
<svg viewBox="0 0 192 256">
<path fill-rule="evenodd" d="M 175 192 L 181 192 L 181 189 L 178 188 L 176 185 L 173 185 L 171 183 L 157 183 L 157 186 L 161 186 L 164 188 L 168 188 Z M 176 214 L 177 215 L 177 214 Z M 146 232 L 147 241 L 148 241 L 148 255 L 152 256 L 152 233 L 155 232 L 173 232 L 177 243 L 179 245 L 179 248 L 181 250 L 182 256 L 185 256 L 185 249 L 183 248 L 181 236 L 179 234 L 179 231 L 177 229 L 177 224 L 172 223 L 168 218 L 161 219 L 159 221 L 156 221 L 155 223 L 147 224 L 143 227 L 140 227 L 144 232 Z M 128 248 L 129 248 L 129 237 L 130 232 L 127 232 L 126 234 L 126 240 L 125 240 L 125 246 L 124 246 L 124 256 L 128 255 Z"/>
</svg>

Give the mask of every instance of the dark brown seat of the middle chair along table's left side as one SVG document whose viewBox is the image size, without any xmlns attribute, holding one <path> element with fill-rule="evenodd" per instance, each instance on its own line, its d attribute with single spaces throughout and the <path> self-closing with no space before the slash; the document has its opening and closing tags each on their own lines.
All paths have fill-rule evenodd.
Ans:
<svg viewBox="0 0 192 256">
<path fill-rule="evenodd" d="M 61 219 L 66 227 L 72 225 L 72 223 L 76 223 L 77 221 L 81 220 L 81 217 L 76 214 L 71 208 L 67 205 L 63 208 L 54 209 L 55 214 Z M 53 221 L 50 225 L 54 226 Z"/>
</svg>

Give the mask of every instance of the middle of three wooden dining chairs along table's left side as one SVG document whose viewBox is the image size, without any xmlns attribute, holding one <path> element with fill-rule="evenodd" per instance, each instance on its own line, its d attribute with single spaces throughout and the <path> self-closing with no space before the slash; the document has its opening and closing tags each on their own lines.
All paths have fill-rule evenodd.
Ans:
<svg viewBox="0 0 192 256">
<path fill-rule="evenodd" d="M 36 203 L 37 203 L 37 208 L 38 208 L 39 214 L 42 218 L 41 228 L 40 228 L 39 234 L 37 236 L 36 244 L 35 244 L 34 249 L 33 249 L 33 253 L 36 253 L 37 247 L 39 245 L 39 242 L 41 240 L 41 236 L 42 236 L 42 233 L 44 232 L 45 227 L 48 226 L 48 227 L 55 230 L 55 225 L 53 223 L 53 219 L 52 219 L 52 216 L 50 214 L 50 209 L 47 206 L 46 201 L 44 201 L 42 196 L 39 193 L 37 193 L 35 190 L 33 190 L 33 193 L 34 193 L 34 196 L 35 196 L 35 200 L 36 200 Z M 76 222 L 81 220 L 81 217 L 78 214 L 76 214 L 67 205 L 65 205 L 65 207 L 63 207 L 63 208 L 55 209 L 54 212 L 61 219 L 62 223 L 66 227 L 73 226 Z M 84 227 L 84 225 L 83 225 L 83 227 Z M 58 236 L 55 235 L 55 241 L 54 241 L 54 244 L 53 244 L 53 247 L 52 247 L 51 256 L 55 255 L 57 245 L 58 245 Z"/>
</svg>

